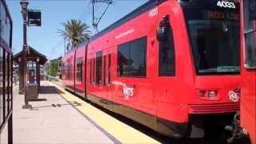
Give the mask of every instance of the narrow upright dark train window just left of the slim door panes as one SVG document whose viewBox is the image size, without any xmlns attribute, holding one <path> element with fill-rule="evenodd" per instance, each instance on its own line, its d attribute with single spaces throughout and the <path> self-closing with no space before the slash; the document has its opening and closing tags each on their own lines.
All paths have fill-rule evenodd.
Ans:
<svg viewBox="0 0 256 144">
<path fill-rule="evenodd" d="M 96 53 L 96 84 L 102 84 L 102 51 Z"/>
</svg>

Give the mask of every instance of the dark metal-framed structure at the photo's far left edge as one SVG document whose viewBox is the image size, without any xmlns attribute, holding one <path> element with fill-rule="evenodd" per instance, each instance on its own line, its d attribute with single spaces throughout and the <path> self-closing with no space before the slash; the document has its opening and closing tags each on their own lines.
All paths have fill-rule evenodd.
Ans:
<svg viewBox="0 0 256 144">
<path fill-rule="evenodd" d="M 1 15 L 0 25 L 7 31 L 0 34 L 0 143 L 2 134 L 7 129 L 8 143 L 13 143 L 13 54 L 12 43 L 12 19 L 6 6 L 6 0 L 0 0 Z M 5 14 L 5 15 L 2 15 Z M 7 20 L 6 20 L 7 18 Z M 8 126 L 6 126 L 8 125 Z"/>
</svg>

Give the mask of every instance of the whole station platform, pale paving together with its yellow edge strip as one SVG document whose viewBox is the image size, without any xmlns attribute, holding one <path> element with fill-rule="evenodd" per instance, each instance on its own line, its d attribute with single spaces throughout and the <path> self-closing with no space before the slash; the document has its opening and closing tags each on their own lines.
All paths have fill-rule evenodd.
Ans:
<svg viewBox="0 0 256 144">
<path fill-rule="evenodd" d="M 56 83 L 42 81 L 38 98 L 22 109 L 14 86 L 14 143 L 160 143 Z"/>
</svg>

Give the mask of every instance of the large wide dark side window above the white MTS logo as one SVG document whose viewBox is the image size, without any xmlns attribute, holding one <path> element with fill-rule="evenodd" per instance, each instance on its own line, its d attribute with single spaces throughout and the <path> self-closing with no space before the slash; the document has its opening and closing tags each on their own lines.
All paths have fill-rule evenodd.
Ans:
<svg viewBox="0 0 256 144">
<path fill-rule="evenodd" d="M 146 77 L 146 37 L 118 46 L 118 77 Z"/>
</svg>

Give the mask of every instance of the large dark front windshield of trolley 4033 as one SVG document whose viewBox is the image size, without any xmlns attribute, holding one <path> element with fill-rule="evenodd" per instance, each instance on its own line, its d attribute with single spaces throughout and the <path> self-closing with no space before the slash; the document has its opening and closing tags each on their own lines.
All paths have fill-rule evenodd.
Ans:
<svg viewBox="0 0 256 144">
<path fill-rule="evenodd" d="M 218 1 L 221 2 L 221 1 Z M 199 75 L 239 74 L 239 6 L 216 2 L 207 6 L 184 7 L 190 47 Z"/>
</svg>

